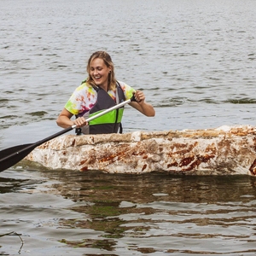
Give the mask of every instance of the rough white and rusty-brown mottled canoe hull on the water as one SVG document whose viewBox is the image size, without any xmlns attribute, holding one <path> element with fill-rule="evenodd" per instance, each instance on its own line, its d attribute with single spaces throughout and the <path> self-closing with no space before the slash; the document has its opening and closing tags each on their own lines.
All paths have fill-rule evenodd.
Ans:
<svg viewBox="0 0 256 256">
<path fill-rule="evenodd" d="M 49 169 L 256 175 L 255 131 L 252 126 L 222 126 L 196 131 L 67 135 L 35 148 L 26 159 Z"/>
</svg>

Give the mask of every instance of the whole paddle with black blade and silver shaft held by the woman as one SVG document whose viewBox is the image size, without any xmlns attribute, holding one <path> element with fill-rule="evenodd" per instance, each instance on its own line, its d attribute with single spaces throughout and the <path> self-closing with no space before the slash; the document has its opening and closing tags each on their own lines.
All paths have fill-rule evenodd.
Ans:
<svg viewBox="0 0 256 256">
<path fill-rule="evenodd" d="M 86 119 L 87 122 L 90 122 L 93 119 L 96 119 L 100 116 L 102 116 L 105 113 L 108 113 L 114 109 L 121 108 L 125 106 L 125 104 L 135 101 L 134 96 L 131 97 L 130 100 L 127 100 L 125 102 L 121 102 L 112 108 L 108 108 L 101 113 L 97 113 L 96 115 L 90 117 L 89 119 Z M 22 144 L 19 146 L 6 148 L 0 151 L 0 172 L 3 172 L 4 170 L 8 169 L 11 166 L 14 166 L 16 163 L 18 163 L 20 160 L 22 160 L 24 157 L 26 157 L 27 154 L 31 153 L 34 148 L 37 148 L 39 145 L 48 142 L 49 140 L 58 137 L 68 131 L 72 131 L 74 128 L 76 128 L 76 125 L 72 125 L 62 131 L 59 131 L 52 136 L 46 137 L 41 141 L 38 141 L 37 143 L 31 143 L 31 144 Z"/>
</svg>

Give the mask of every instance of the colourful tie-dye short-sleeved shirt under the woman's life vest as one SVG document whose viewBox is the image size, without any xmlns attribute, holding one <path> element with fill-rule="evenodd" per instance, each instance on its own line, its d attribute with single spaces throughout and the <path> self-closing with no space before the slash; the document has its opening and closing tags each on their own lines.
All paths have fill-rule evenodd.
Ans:
<svg viewBox="0 0 256 256">
<path fill-rule="evenodd" d="M 132 93 L 135 91 L 131 86 L 120 82 L 120 87 L 124 91 L 125 100 L 131 99 Z M 108 95 L 116 101 L 116 90 L 108 90 Z M 84 82 L 76 90 L 73 95 L 67 101 L 65 108 L 74 115 L 84 115 L 84 113 L 90 111 L 91 108 L 96 104 L 97 92 L 93 89 L 90 84 Z"/>
</svg>

